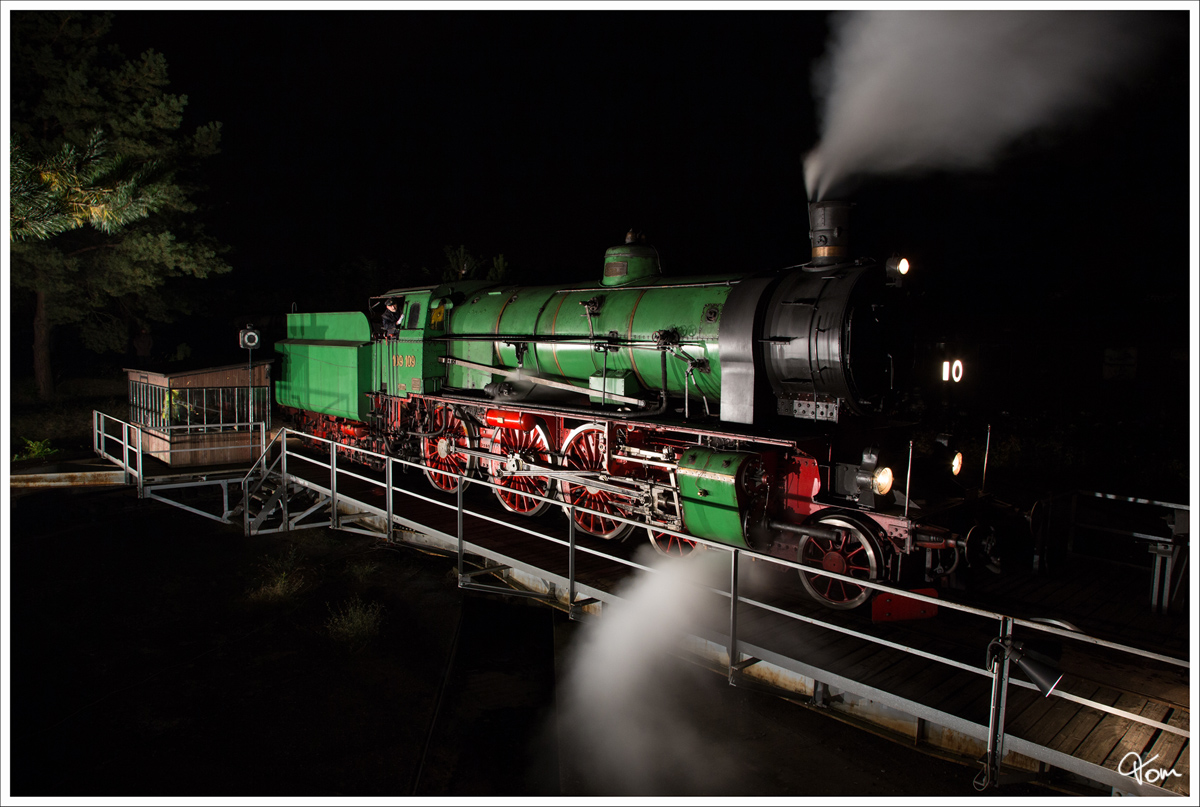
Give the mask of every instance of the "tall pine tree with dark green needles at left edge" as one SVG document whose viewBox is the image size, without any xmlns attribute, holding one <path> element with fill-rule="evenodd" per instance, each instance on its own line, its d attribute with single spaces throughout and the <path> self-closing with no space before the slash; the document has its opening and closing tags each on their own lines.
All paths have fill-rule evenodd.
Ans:
<svg viewBox="0 0 1200 807">
<path fill-rule="evenodd" d="M 12 286 L 34 298 L 34 372 L 53 393 L 52 329 L 124 351 L 131 324 L 188 312 L 179 279 L 229 271 L 196 221 L 188 173 L 220 124 L 179 131 L 167 61 L 101 47 L 113 14 L 11 12 Z"/>
</svg>

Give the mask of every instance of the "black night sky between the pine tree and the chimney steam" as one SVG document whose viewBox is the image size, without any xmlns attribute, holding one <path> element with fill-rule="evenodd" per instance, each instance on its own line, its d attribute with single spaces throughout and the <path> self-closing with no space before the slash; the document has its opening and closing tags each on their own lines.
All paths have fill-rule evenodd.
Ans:
<svg viewBox="0 0 1200 807">
<path fill-rule="evenodd" d="M 806 258 L 822 14 L 121 12 L 114 35 L 223 122 L 239 271 L 463 244 L 588 276 L 631 226 L 678 274 Z"/>
</svg>

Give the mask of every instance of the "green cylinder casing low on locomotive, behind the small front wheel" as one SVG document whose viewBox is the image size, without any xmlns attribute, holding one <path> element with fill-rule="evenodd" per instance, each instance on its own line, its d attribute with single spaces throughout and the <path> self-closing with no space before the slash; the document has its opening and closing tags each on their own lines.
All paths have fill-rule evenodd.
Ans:
<svg viewBox="0 0 1200 807">
<path fill-rule="evenodd" d="M 738 472 L 754 454 L 714 452 L 694 446 L 679 458 L 679 496 L 684 527 L 698 538 L 749 549 L 742 527 Z"/>
</svg>

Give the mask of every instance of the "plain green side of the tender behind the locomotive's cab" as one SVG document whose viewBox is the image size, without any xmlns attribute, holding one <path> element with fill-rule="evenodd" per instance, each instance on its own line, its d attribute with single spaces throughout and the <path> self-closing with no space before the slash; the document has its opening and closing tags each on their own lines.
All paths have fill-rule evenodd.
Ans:
<svg viewBox="0 0 1200 807">
<path fill-rule="evenodd" d="M 371 325 L 358 311 L 289 313 L 288 337 L 275 343 L 283 369 L 282 406 L 365 422 L 371 413 Z"/>
</svg>

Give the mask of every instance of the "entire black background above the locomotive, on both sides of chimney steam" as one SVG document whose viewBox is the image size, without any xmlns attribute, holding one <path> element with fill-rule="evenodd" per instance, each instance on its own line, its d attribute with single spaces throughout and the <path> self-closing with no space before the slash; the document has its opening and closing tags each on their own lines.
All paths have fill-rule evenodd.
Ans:
<svg viewBox="0 0 1200 807">
<path fill-rule="evenodd" d="M 1081 431 L 1097 453 L 1078 464 L 1106 443 L 1178 488 L 1188 14 L 1153 13 L 1170 34 L 1103 108 L 994 169 L 875 179 L 851 201 L 856 253 L 913 262 L 920 369 L 967 359 L 942 405 Z M 127 56 L 166 54 L 185 130 L 223 125 L 199 201 L 234 270 L 197 285 L 218 315 L 156 331 L 156 351 L 238 361 L 246 322 L 270 341 L 293 306 L 365 309 L 428 282 L 448 245 L 546 283 L 599 276 L 630 227 L 672 275 L 802 263 L 828 36 L 828 14 L 796 11 L 116 12 Z"/>
</svg>

